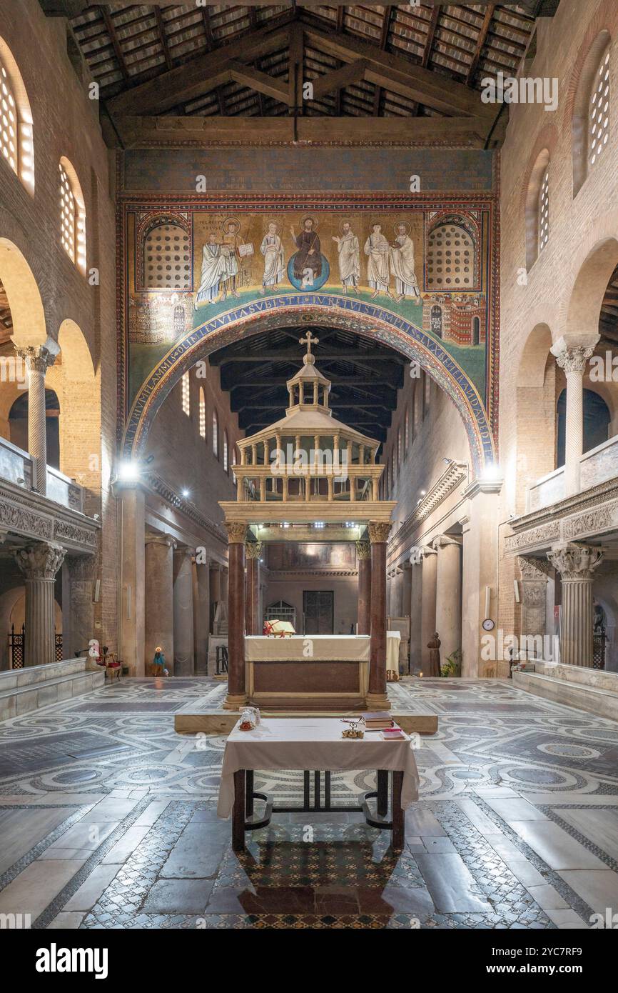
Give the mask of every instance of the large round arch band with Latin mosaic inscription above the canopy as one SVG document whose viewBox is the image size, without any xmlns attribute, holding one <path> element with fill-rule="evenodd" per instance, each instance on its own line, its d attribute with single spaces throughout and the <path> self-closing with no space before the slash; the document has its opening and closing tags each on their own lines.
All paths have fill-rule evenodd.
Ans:
<svg viewBox="0 0 618 993">
<path fill-rule="evenodd" d="M 463 369 L 441 344 L 379 306 L 330 294 L 286 294 L 255 301 L 218 315 L 187 333 L 164 355 L 140 387 L 127 420 L 123 457 L 141 457 L 157 411 L 183 373 L 198 359 L 241 338 L 289 326 L 295 321 L 301 325 L 329 324 L 378 339 L 401 355 L 418 361 L 459 411 L 476 474 L 495 463 L 494 442 L 483 401 Z"/>
</svg>

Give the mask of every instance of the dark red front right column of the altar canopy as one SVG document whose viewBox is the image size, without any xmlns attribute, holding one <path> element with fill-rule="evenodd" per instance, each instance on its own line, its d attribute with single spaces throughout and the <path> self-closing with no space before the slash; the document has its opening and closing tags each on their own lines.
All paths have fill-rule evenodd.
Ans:
<svg viewBox="0 0 618 993">
<path fill-rule="evenodd" d="M 386 692 L 386 547 L 390 521 L 369 521 L 371 542 L 371 643 L 367 710 L 390 710 Z"/>
</svg>

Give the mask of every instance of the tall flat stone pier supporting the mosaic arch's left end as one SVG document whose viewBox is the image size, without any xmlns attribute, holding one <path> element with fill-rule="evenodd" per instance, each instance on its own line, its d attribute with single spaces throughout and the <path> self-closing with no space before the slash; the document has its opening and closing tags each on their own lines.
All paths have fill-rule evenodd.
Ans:
<svg viewBox="0 0 618 993">
<path fill-rule="evenodd" d="M 144 675 L 145 502 L 139 483 L 117 483 L 120 497 L 120 616 L 118 650 L 129 675 Z M 172 659 L 170 659 L 172 661 Z"/>
</svg>

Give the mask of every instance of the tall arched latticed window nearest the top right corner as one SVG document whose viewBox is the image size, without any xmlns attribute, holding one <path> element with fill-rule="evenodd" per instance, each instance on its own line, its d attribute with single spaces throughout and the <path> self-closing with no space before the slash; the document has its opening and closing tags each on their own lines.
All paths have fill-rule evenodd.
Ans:
<svg viewBox="0 0 618 993">
<path fill-rule="evenodd" d="M 601 31 L 588 50 L 575 95 L 572 122 L 573 197 L 609 141 L 610 36 Z"/>
</svg>

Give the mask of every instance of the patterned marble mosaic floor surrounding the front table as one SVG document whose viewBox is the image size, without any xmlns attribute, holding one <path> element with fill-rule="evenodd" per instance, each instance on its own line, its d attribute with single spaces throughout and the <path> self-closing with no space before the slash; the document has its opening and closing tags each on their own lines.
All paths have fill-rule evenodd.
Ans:
<svg viewBox="0 0 618 993">
<path fill-rule="evenodd" d="M 237 856 L 215 814 L 224 738 L 174 731 L 174 712 L 210 687 L 221 692 L 206 678 L 127 679 L 0 724 L 0 916 L 584 928 L 618 912 L 618 724 L 508 680 L 404 680 L 398 705 L 439 718 L 417 752 L 404 852 L 361 814 L 279 814 Z M 301 785 L 256 774 L 279 802 Z M 333 774 L 332 801 L 372 787 L 372 774 Z"/>
</svg>

